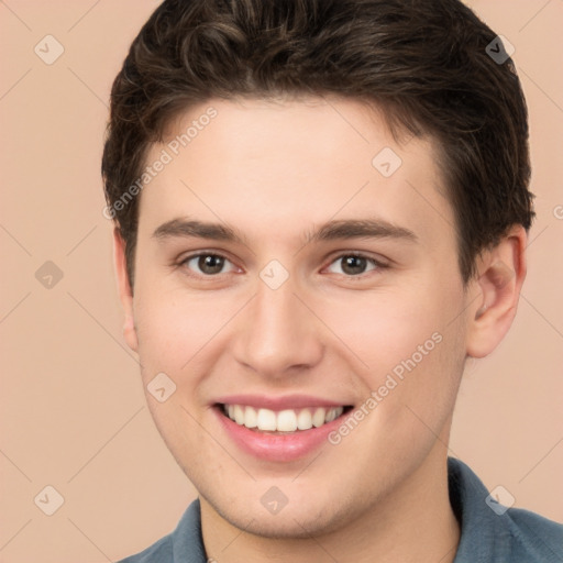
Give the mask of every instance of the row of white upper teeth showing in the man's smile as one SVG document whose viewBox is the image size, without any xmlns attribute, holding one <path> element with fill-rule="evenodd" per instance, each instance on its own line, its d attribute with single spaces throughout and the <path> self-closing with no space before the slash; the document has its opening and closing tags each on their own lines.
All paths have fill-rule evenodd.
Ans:
<svg viewBox="0 0 563 563">
<path fill-rule="evenodd" d="M 225 405 L 223 407 L 223 412 L 238 424 L 271 432 L 295 432 L 313 427 L 319 428 L 339 418 L 343 411 L 343 407 L 286 409 L 279 412 L 269 409 L 256 410 L 243 405 Z"/>
</svg>

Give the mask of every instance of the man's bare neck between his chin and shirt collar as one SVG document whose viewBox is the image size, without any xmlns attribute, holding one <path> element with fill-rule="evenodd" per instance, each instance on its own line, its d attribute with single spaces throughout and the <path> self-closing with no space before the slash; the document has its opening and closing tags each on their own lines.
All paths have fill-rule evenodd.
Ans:
<svg viewBox="0 0 563 563">
<path fill-rule="evenodd" d="M 450 505 L 446 452 L 435 446 L 423 464 L 371 509 L 338 530 L 308 539 L 265 538 L 223 519 L 203 498 L 206 551 L 220 563 L 452 563 L 460 527 Z"/>
</svg>

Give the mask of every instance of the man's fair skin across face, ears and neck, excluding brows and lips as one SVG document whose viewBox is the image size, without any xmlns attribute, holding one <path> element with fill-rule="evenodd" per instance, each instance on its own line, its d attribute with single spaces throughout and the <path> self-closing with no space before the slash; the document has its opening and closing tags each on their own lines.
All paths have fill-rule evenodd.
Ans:
<svg viewBox="0 0 563 563">
<path fill-rule="evenodd" d="M 200 494 L 209 558 L 341 563 L 453 561 L 460 529 L 448 497 L 446 455 L 467 356 L 483 357 L 516 313 L 526 233 L 515 227 L 482 254 L 466 286 L 457 268 L 451 206 L 431 140 L 399 144 L 379 112 L 351 99 L 210 100 L 169 125 L 170 139 L 212 106 L 218 117 L 165 166 L 141 197 L 135 286 L 114 250 L 124 335 L 155 423 Z M 383 147 L 402 165 L 372 166 Z M 164 145 L 154 145 L 147 162 Z M 219 222 L 241 242 L 155 238 L 174 219 Z M 313 241 L 330 220 L 377 219 L 413 239 Z M 201 251 L 228 258 L 209 275 Z M 362 253 L 364 273 L 342 257 Z M 260 277 L 277 260 L 288 279 Z M 360 268 L 361 269 L 361 268 Z M 356 407 L 433 333 L 423 356 L 338 445 L 295 462 L 242 452 L 210 409 L 221 395 L 313 395 Z M 269 514 L 261 497 L 288 503 Z"/>
</svg>

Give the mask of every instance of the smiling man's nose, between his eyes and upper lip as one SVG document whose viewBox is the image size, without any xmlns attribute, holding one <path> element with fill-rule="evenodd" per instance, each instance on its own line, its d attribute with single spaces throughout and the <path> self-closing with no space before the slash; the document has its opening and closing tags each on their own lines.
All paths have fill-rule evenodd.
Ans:
<svg viewBox="0 0 563 563">
<path fill-rule="evenodd" d="M 235 358 L 268 378 L 295 375 L 317 365 L 323 354 L 319 320 L 287 280 L 272 289 L 258 280 L 255 297 L 239 319 Z"/>
</svg>

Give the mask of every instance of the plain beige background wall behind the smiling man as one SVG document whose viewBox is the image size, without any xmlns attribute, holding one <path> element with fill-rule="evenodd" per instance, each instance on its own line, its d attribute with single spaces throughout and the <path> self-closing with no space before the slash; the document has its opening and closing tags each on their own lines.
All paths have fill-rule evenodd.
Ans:
<svg viewBox="0 0 563 563">
<path fill-rule="evenodd" d="M 0 1 L 4 563 L 115 561 L 170 531 L 195 497 L 153 427 L 121 335 L 111 224 L 101 214 L 109 89 L 156 4 Z M 561 521 L 563 2 L 471 4 L 516 47 L 538 220 L 517 321 L 467 369 L 451 450 L 489 489 L 503 485 L 516 506 Z M 34 53 L 36 44 L 46 51 L 47 34 L 65 49 L 52 65 Z M 63 273 L 51 288 L 35 277 L 47 261 Z M 47 485 L 64 497 L 53 516 L 34 504 Z"/>
</svg>

